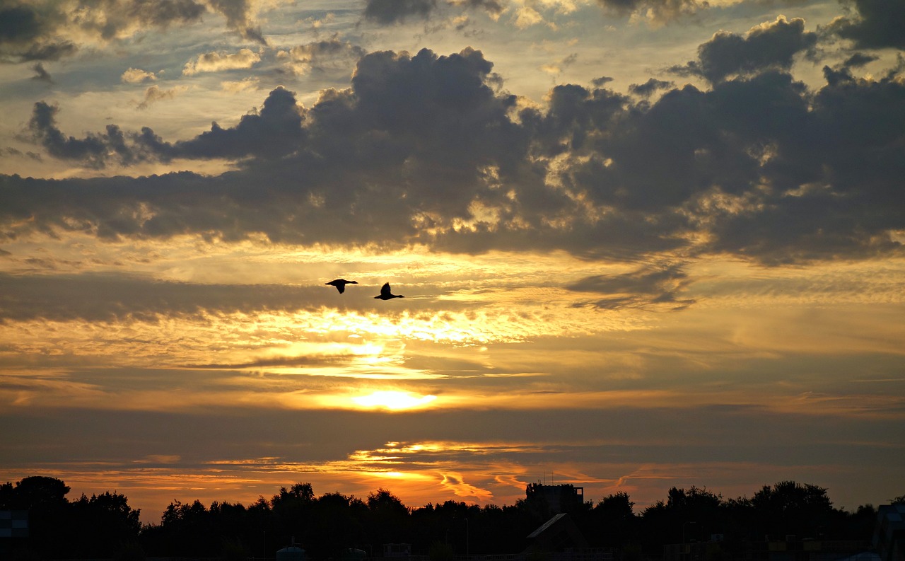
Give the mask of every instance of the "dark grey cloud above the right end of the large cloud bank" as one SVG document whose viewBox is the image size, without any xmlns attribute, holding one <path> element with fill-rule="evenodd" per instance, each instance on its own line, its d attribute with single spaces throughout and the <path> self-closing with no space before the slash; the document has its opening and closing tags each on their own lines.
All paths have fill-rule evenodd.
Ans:
<svg viewBox="0 0 905 561">
<path fill-rule="evenodd" d="M 714 83 L 765 69 L 787 70 L 796 53 L 813 49 L 816 43 L 817 34 L 805 32 L 805 20 L 786 20 L 780 15 L 775 22 L 758 25 L 745 36 L 716 33 L 698 48 L 698 61 L 673 70 L 697 74 Z"/>
</svg>

